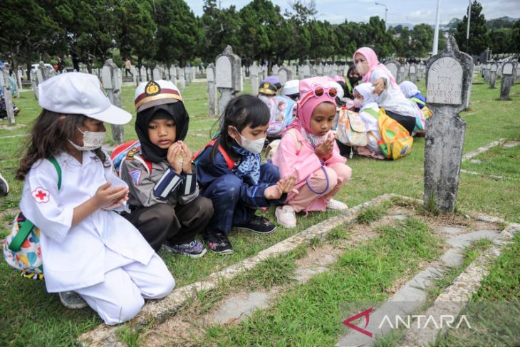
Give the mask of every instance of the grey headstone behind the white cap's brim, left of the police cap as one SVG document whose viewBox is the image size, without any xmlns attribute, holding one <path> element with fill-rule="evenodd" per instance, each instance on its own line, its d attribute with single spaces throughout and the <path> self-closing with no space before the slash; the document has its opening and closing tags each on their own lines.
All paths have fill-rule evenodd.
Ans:
<svg viewBox="0 0 520 347">
<path fill-rule="evenodd" d="M 110 103 L 121 107 L 121 71 L 112 59 L 107 59 L 101 72 L 103 89 L 108 93 Z M 112 125 L 112 138 L 116 144 L 125 142 L 125 128 L 123 125 Z"/>
</svg>

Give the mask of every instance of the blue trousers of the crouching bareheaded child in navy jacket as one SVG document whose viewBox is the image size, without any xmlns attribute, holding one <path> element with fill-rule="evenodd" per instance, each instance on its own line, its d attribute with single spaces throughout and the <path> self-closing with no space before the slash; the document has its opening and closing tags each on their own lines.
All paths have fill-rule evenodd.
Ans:
<svg viewBox="0 0 520 347">
<path fill-rule="evenodd" d="M 259 183 L 276 185 L 280 172 L 275 165 L 266 163 L 260 166 Z M 223 232 L 229 234 L 233 225 L 246 224 L 254 216 L 255 209 L 245 206 L 240 201 L 242 180 L 236 175 L 223 175 L 214 180 L 200 195 L 213 202 L 213 217 L 207 226 L 208 233 Z"/>
</svg>

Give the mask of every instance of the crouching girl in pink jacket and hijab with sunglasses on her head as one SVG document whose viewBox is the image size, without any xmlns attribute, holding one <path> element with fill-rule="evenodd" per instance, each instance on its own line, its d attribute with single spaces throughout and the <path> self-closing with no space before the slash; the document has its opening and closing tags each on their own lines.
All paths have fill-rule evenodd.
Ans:
<svg viewBox="0 0 520 347">
<path fill-rule="evenodd" d="M 285 205 L 276 208 L 276 218 L 284 227 L 296 227 L 295 212 L 348 208 L 333 200 L 352 170 L 345 165 L 331 133 L 338 93 L 332 81 L 327 77 L 300 81 L 297 117 L 273 157 L 280 177 L 295 175 L 297 182 L 294 187 L 298 193 L 290 193 Z"/>
</svg>

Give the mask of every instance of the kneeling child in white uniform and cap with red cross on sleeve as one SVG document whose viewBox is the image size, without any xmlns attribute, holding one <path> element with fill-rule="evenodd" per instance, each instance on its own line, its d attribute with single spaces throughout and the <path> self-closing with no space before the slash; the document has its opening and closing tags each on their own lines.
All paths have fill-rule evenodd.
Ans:
<svg viewBox="0 0 520 347">
<path fill-rule="evenodd" d="M 16 178 L 25 180 L 21 212 L 41 230 L 47 291 L 76 291 L 106 324 L 128 321 L 145 299 L 175 286 L 140 232 L 113 211 L 128 200 L 128 186 L 100 148 L 103 122 L 122 125 L 132 116 L 86 73 L 63 73 L 38 90 L 43 110 Z"/>
</svg>

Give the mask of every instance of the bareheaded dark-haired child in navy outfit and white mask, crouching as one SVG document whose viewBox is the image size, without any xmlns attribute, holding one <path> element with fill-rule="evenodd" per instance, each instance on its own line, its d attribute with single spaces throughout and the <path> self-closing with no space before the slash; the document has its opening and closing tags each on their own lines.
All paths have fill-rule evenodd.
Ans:
<svg viewBox="0 0 520 347">
<path fill-rule="evenodd" d="M 204 239 L 213 252 L 229 254 L 233 247 L 227 235 L 233 226 L 257 234 L 274 232 L 274 224 L 255 211 L 283 203 L 295 177 L 280 180 L 278 167 L 260 165 L 270 115 L 259 98 L 234 98 L 222 117 L 219 135 L 195 155 L 195 161 L 201 195 L 209 197 L 214 208 Z"/>
</svg>

